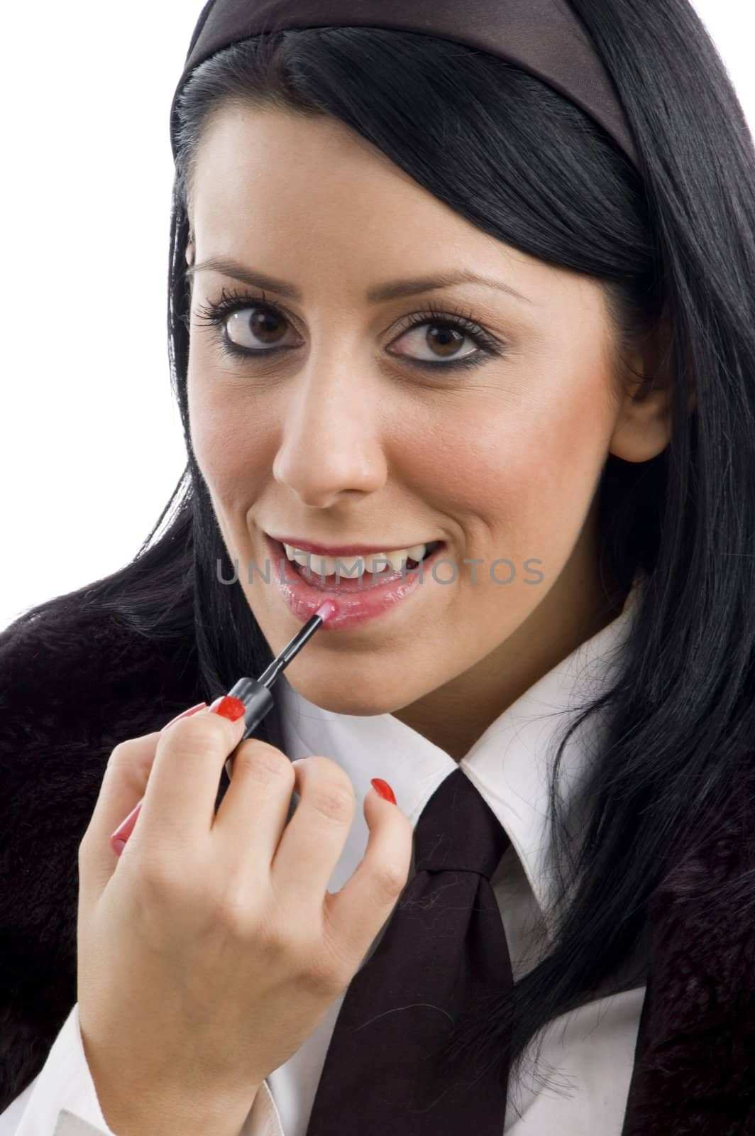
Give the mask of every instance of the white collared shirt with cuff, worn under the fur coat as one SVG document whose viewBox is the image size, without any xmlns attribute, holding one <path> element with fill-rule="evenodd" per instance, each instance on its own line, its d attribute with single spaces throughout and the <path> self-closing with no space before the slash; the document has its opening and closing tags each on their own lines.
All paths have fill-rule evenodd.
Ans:
<svg viewBox="0 0 755 1136">
<path fill-rule="evenodd" d="M 372 777 L 392 786 L 414 825 L 438 785 L 463 769 L 511 838 L 493 886 L 506 933 L 514 980 L 535 966 L 548 944 L 546 853 L 548 771 L 568 711 L 598 693 L 630 624 L 639 585 L 623 611 L 577 648 L 510 705 L 459 763 L 391 713 L 332 713 L 297 694 L 283 675 L 276 684 L 286 754 L 321 754 L 349 774 L 356 808 L 328 891 L 342 887 L 362 859 L 369 829 L 361 801 Z M 592 716 L 568 742 L 560 792 L 574 794 L 604 720 Z M 557 736 L 556 736 L 557 735 Z M 414 874 L 412 859 L 410 877 Z M 387 924 L 385 925 L 387 926 Z M 369 959 L 384 930 L 368 951 Z M 530 1043 L 543 1042 L 535 1076 L 509 1086 L 503 1136 L 620 1136 L 645 986 L 603 997 L 562 1014 Z M 304 1136 L 326 1051 L 345 991 L 300 1049 L 261 1086 L 240 1136 Z M 526 1066 L 527 1068 L 527 1066 Z M 550 1084 L 538 1078 L 542 1074 Z M 0 1116 L 0 1136 L 114 1136 L 89 1072 L 76 1003 L 39 1076 Z"/>
</svg>

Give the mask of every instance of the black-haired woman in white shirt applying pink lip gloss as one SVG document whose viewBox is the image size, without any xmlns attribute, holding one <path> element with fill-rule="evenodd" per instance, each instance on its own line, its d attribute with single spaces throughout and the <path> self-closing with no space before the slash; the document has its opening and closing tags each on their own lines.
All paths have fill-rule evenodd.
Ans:
<svg viewBox="0 0 755 1136">
<path fill-rule="evenodd" d="M 461 36 L 292 26 L 188 77 L 176 511 L 0 641 L 0 1133 L 314 1136 L 339 1010 L 458 770 L 509 841 L 513 982 L 454 1035 L 503 1081 L 477 1127 L 755 1133 L 755 156 L 687 0 L 571 9 L 631 154 Z M 278 583 L 283 546 L 355 544 L 446 568 L 319 632 L 212 802 L 241 726 L 207 703 L 318 587 Z M 397 1131 L 461 1130 L 443 1102 L 410 1127 L 401 1043 L 352 1046 L 361 1131 L 393 1092 Z"/>
</svg>

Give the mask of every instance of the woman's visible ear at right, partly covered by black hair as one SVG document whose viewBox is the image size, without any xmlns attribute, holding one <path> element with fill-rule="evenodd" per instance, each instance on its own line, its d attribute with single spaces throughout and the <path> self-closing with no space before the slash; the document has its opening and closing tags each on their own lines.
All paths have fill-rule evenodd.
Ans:
<svg viewBox="0 0 755 1136">
<path fill-rule="evenodd" d="M 619 414 L 609 445 L 609 452 L 624 461 L 649 461 L 671 441 L 671 337 L 664 308 L 655 329 L 624 360 Z M 688 414 L 696 404 L 690 386 Z"/>
</svg>

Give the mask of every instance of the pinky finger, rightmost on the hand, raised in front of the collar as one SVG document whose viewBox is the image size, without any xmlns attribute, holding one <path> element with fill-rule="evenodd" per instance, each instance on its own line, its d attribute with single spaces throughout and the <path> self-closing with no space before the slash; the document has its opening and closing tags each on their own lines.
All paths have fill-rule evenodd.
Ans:
<svg viewBox="0 0 755 1136">
<path fill-rule="evenodd" d="M 364 958 L 406 884 L 414 832 L 405 813 L 375 788 L 363 812 L 370 830 L 364 855 L 344 886 L 325 896 L 328 936 L 352 966 Z"/>
</svg>

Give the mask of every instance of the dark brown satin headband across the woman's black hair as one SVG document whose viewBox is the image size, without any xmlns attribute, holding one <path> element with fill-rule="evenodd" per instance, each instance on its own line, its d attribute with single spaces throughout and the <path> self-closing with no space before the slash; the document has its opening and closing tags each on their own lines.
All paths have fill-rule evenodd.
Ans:
<svg viewBox="0 0 755 1136">
<path fill-rule="evenodd" d="M 383 27 L 453 40 L 500 56 L 590 115 L 637 165 L 605 67 L 567 0 L 209 0 L 200 12 L 170 107 L 188 73 L 221 48 L 288 27 Z"/>
</svg>

